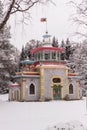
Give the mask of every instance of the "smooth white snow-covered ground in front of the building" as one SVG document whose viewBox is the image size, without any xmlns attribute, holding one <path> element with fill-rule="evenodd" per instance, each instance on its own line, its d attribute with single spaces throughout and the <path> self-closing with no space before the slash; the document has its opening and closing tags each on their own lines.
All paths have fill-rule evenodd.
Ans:
<svg viewBox="0 0 87 130">
<path fill-rule="evenodd" d="M 53 127 L 70 122 L 87 126 L 85 98 L 74 101 L 9 102 L 8 95 L 0 95 L 0 130 L 58 130 Z"/>
</svg>

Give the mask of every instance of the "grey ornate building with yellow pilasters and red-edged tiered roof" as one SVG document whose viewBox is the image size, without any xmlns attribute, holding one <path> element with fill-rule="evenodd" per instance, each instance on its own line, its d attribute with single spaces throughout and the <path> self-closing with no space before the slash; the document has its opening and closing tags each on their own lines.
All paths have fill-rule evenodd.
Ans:
<svg viewBox="0 0 87 130">
<path fill-rule="evenodd" d="M 33 60 L 21 61 L 20 72 L 9 85 L 10 101 L 49 101 L 81 99 L 80 76 L 69 73 L 61 58 L 63 48 L 52 47 L 50 35 L 43 36 L 42 47 L 31 50 Z"/>
</svg>

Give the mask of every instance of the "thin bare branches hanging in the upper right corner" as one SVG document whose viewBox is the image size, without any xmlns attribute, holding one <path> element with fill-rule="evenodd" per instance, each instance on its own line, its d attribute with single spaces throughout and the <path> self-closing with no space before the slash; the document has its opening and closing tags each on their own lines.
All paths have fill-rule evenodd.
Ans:
<svg viewBox="0 0 87 130">
<path fill-rule="evenodd" d="M 79 2 L 71 0 L 70 3 L 76 10 L 72 16 L 73 20 L 79 25 L 76 34 L 87 38 L 87 0 L 79 0 Z"/>
</svg>

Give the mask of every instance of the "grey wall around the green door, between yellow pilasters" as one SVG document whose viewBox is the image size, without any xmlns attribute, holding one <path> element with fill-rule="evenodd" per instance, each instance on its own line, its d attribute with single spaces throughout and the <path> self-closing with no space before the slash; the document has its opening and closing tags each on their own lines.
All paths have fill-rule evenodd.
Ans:
<svg viewBox="0 0 87 130">
<path fill-rule="evenodd" d="M 62 92 L 61 98 L 66 95 L 66 70 L 61 68 L 45 68 L 44 69 L 44 95 L 46 99 L 52 99 L 52 79 L 54 76 L 61 77 Z"/>
</svg>

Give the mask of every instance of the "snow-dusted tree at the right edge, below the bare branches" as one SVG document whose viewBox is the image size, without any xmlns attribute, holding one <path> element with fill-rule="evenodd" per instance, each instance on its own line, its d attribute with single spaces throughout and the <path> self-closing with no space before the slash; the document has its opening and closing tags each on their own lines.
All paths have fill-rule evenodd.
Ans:
<svg viewBox="0 0 87 130">
<path fill-rule="evenodd" d="M 87 41 L 77 44 L 73 53 L 76 71 L 82 76 L 84 87 L 87 85 Z"/>
</svg>

